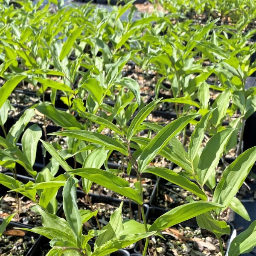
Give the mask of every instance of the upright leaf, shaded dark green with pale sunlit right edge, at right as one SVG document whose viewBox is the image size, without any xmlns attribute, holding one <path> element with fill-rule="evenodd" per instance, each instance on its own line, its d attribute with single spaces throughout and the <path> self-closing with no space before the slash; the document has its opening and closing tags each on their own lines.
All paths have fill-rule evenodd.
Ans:
<svg viewBox="0 0 256 256">
<path fill-rule="evenodd" d="M 198 178 L 204 185 L 221 159 L 221 155 L 235 129 L 228 128 L 213 135 L 204 147 L 198 163 Z"/>
</svg>

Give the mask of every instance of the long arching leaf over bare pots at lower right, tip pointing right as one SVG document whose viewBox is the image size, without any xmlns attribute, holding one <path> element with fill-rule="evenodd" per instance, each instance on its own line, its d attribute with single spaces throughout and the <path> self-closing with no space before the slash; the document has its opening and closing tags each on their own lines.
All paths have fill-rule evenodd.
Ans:
<svg viewBox="0 0 256 256">
<path fill-rule="evenodd" d="M 208 212 L 212 209 L 217 209 L 221 207 L 224 206 L 221 204 L 204 201 L 180 205 L 157 218 L 148 231 L 161 231 L 168 227 L 172 227 L 173 225 L 176 225 L 182 221 L 194 218 L 195 216 L 200 215 L 204 212 Z"/>
</svg>

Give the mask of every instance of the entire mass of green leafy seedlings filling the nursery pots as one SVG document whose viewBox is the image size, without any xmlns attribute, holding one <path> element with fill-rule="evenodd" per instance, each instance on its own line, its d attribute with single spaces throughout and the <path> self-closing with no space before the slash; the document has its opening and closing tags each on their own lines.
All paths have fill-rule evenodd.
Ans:
<svg viewBox="0 0 256 256">
<path fill-rule="evenodd" d="M 230 234 L 230 226 L 220 213 L 230 207 L 250 221 L 236 194 L 256 161 L 256 147 L 244 152 L 241 147 L 244 122 L 256 111 L 256 87 L 246 87 L 256 71 L 254 1 L 160 0 L 139 20 L 133 1 L 111 12 L 90 3 L 42 2 L 0 4 L 0 165 L 14 174 L 1 172 L 0 183 L 37 205 L 42 227 L 32 231 L 51 240 L 47 256 L 109 255 L 143 239 L 145 256 L 152 235 L 194 217 L 215 234 L 224 255 L 221 236 Z M 148 86 L 136 74 L 154 79 Z M 17 87 L 33 88 L 38 102 L 7 128 Z M 57 107 L 57 99 L 64 108 Z M 164 108 L 175 120 L 150 121 L 148 116 Z M 35 116 L 41 123 L 31 125 Z M 49 123 L 58 129 L 48 133 Z M 41 158 L 50 155 L 41 170 L 35 169 L 38 145 L 44 148 Z M 232 150 L 236 159 L 227 164 L 225 155 Z M 113 152 L 122 165 L 127 161 L 126 169 L 108 167 Z M 182 171 L 155 165 L 159 156 Z M 18 180 L 20 169 L 34 181 Z M 195 197 L 148 225 L 146 174 Z M 77 189 L 90 201 L 93 184 L 136 203 L 139 220 L 123 221 L 121 203 L 102 227 L 98 209 L 77 205 Z M 65 218 L 56 215 L 60 193 Z M 91 218 L 98 229 L 83 233 Z M 255 227 L 253 221 L 232 241 L 228 255 L 253 249 Z M 94 237 L 92 250 L 88 241 Z"/>
</svg>

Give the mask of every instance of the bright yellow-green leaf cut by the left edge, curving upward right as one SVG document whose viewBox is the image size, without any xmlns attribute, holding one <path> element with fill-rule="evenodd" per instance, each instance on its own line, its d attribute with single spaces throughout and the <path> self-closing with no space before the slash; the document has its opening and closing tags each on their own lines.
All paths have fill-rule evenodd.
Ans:
<svg viewBox="0 0 256 256">
<path fill-rule="evenodd" d="M 4 83 L 4 85 L 0 88 L 0 108 L 2 108 L 4 102 L 11 95 L 16 85 L 25 77 L 27 77 L 26 74 L 19 73 Z"/>
</svg>

